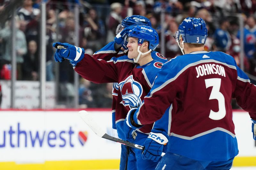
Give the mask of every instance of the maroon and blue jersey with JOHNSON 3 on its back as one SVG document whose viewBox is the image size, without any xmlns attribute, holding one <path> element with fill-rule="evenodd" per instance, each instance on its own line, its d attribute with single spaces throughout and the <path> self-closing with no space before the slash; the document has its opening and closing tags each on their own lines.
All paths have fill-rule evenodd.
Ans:
<svg viewBox="0 0 256 170">
<path fill-rule="evenodd" d="M 151 124 L 168 111 L 169 152 L 224 161 L 238 154 L 232 98 L 255 118 L 256 87 L 234 58 L 222 52 L 193 52 L 163 65 L 134 118 L 138 124 Z"/>
</svg>

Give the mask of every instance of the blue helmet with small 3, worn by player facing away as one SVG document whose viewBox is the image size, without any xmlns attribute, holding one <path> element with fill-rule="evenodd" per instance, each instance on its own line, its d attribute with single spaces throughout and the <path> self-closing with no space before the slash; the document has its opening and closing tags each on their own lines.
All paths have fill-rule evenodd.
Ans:
<svg viewBox="0 0 256 170">
<path fill-rule="evenodd" d="M 175 39 L 178 42 L 180 35 L 184 43 L 204 44 L 207 37 L 207 28 L 202 18 L 185 18 L 179 25 Z"/>
</svg>

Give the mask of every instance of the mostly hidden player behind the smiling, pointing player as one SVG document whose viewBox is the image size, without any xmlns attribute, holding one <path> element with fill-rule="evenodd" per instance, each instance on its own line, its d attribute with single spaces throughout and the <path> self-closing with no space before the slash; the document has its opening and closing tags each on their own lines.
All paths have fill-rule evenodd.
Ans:
<svg viewBox="0 0 256 170">
<path fill-rule="evenodd" d="M 101 60 L 106 60 L 109 61 L 111 60 L 112 57 L 120 57 L 123 55 L 127 55 L 127 50 L 128 47 L 127 41 L 126 41 L 126 36 L 130 29 L 132 29 L 134 26 L 138 25 L 145 25 L 145 26 L 150 26 L 151 23 L 150 20 L 144 16 L 140 15 L 132 15 L 129 17 L 126 17 L 122 20 L 122 23 L 119 24 L 116 28 L 116 37 L 114 41 L 109 42 L 106 46 L 101 48 L 99 51 L 95 52 L 93 54 L 93 57 L 96 59 L 101 59 Z M 151 52 L 151 57 L 159 61 L 161 63 L 167 62 L 167 59 L 160 53 L 152 51 Z M 116 119 L 116 105 L 117 103 L 117 95 L 118 95 L 118 89 L 119 89 L 119 84 L 116 82 L 113 83 L 113 90 L 112 90 L 112 95 L 113 95 L 113 101 L 112 101 L 112 127 L 113 129 L 116 129 L 116 123 L 118 123 L 120 120 Z M 123 121 L 123 120 L 121 120 Z M 129 147 L 125 145 L 121 145 L 121 159 L 120 159 L 120 169 L 127 169 L 127 156 L 129 152 Z"/>
</svg>

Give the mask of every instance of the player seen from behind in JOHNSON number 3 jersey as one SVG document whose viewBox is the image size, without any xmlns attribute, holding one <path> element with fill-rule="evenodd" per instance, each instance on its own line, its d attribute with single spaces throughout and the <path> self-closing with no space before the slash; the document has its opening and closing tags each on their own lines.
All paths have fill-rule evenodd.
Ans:
<svg viewBox="0 0 256 170">
<path fill-rule="evenodd" d="M 127 114 L 129 126 L 143 128 L 172 107 L 170 140 L 158 170 L 230 169 L 238 154 L 232 98 L 249 112 L 256 140 L 256 87 L 232 56 L 204 51 L 206 36 L 202 18 L 184 19 L 176 33 L 184 55 L 163 65 L 140 107 Z"/>
</svg>

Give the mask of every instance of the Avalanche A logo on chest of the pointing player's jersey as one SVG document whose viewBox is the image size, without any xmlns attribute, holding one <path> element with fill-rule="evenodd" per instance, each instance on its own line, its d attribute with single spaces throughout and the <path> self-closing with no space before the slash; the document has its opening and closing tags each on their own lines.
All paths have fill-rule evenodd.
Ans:
<svg viewBox="0 0 256 170">
<path fill-rule="evenodd" d="M 142 103 L 140 99 L 140 96 L 142 95 L 142 86 L 138 81 L 133 79 L 132 75 L 120 82 L 119 88 L 123 99 L 120 103 L 124 106 L 129 106 L 130 109 L 140 106 Z"/>
</svg>

